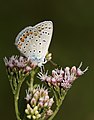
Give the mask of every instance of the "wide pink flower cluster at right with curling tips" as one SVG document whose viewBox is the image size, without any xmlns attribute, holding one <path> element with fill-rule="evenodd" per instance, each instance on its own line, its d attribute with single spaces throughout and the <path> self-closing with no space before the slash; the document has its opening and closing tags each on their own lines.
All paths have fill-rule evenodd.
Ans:
<svg viewBox="0 0 94 120">
<path fill-rule="evenodd" d="M 55 87 L 63 88 L 64 90 L 69 89 L 72 86 L 72 83 L 79 76 L 83 75 L 87 71 L 88 67 L 82 71 L 80 68 L 82 63 L 78 68 L 73 66 L 71 69 L 66 67 L 64 70 L 55 69 L 52 70 L 52 75 L 48 75 L 48 71 L 43 73 L 42 71 L 38 73 L 38 78 L 42 81 L 45 81 L 48 85 L 53 85 Z"/>
</svg>

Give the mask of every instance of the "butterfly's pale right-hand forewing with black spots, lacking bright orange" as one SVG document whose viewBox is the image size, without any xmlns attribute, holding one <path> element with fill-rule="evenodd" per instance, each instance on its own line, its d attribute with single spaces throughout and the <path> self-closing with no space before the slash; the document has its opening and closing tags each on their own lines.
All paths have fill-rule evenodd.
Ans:
<svg viewBox="0 0 94 120">
<path fill-rule="evenodd" d="M 34 26 L 37 30 L 38 41 L 37 41 L 37 51 L 36 57 L 39 60 L 44 60 L 52 38 L 53 23 L 51 21 L 44 21 Z"/>
</svg>

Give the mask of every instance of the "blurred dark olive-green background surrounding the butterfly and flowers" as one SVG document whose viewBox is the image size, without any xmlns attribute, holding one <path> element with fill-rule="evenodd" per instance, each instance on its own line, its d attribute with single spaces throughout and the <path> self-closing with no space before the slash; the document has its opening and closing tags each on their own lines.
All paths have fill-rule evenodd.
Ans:
<svg viewBox="0 0 94 120">
<path fill-rule="evenodd" d="M 54 33 L 49 51 L 65 66 L 89 66 L 69 90 L 54 120 L 94 120 L 94 1 L 0 0 L 0 120 L 16 120 L 13 95 L 3 62 L 19 54 L 15 37 L 24 27 L 52 20 Z"/>
</svg>

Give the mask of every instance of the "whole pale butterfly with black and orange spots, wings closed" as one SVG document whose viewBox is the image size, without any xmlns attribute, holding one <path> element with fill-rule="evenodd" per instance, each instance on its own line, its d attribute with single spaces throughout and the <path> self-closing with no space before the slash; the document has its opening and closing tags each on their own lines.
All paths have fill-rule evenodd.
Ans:
<svg viewBox="0 0 94 120">
<path fill-rule="evenodd" d="M 45 56 L 53 33 L 52 21 L 44 21 L 23 29 L 15 39 L 18 50 L 38 66 L 46 63 Z"/>
</svg>

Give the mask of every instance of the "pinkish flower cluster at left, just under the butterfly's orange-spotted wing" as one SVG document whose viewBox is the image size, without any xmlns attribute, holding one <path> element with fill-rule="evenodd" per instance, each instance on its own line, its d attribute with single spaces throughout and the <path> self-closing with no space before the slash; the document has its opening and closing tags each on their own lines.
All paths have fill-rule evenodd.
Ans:
<svg viewBox="0 0 94 120">
<path fill-rule="evenodd" d="M 17 70 L 22 69 L 24 73 L 30 72 L 31 69 L 36 67 L 36 64 L 23 56 L 11 56 L 9 59 L 5 57 L 4 62 L 7 68 L 16 68 Z"/>
</svg>

